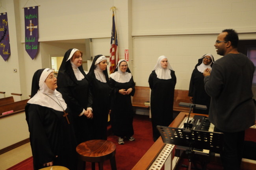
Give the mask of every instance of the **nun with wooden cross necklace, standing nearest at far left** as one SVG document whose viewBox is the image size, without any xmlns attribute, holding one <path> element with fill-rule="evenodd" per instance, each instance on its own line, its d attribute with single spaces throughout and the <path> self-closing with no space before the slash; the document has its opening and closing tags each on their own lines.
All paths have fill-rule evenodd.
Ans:
<svg viewBox="0 0 256 170">
<path fill-rule="evenodd" d="M 56 88 L 52 70 L 35 72 L 31 99 L 25 107 L 34 170 L 53 165 L 76 169 L 77 143 L 72 116 Z"/>
</svg>

